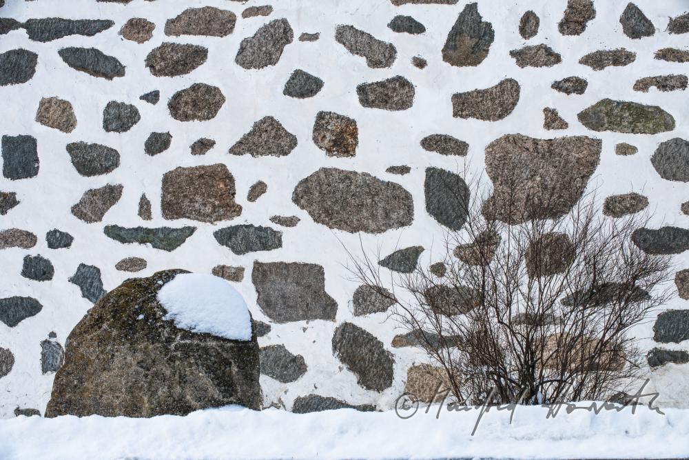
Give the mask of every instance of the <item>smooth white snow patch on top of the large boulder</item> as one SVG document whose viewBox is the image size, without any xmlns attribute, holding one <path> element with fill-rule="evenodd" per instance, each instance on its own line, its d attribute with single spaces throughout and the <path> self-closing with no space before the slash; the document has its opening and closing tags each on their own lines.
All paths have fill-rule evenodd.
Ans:
<svg viewBox="0 0 689 460">
<path fill-rule="evenodd" d="M 192 332 L 232 340 L 251 340 L 251 315 L 243 297 L 212 274 L 181 273 L 158 291 L 164 319 Z"/>
</svg>

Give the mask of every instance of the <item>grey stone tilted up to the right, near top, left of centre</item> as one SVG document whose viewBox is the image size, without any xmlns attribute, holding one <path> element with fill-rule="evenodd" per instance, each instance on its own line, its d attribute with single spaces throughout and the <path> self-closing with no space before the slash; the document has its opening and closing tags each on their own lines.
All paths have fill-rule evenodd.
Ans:
<svg viewBox="0 0 689 460">
<path fill-rule="evenodd" d="M 253 37 L 242 40 L 234 61 L 247 70 L 275 66 L 285 46 L 293 40 L 294 32 L 287 19 L 275 19 L 259 28 Z"/>
</svg>

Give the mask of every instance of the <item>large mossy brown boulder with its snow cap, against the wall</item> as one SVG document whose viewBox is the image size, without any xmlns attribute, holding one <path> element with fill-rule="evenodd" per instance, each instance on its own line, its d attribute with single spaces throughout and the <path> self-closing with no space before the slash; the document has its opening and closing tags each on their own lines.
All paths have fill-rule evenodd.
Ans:
<svg viewBox="0 0 689 460">
<path fill-rule="evenodd" d="M 67 339 L 45 417 L 260 408 L 259 350 L 246 306 L 222 279 L 186 273 L 127 279 L 89 310 Z"/>
</svg>

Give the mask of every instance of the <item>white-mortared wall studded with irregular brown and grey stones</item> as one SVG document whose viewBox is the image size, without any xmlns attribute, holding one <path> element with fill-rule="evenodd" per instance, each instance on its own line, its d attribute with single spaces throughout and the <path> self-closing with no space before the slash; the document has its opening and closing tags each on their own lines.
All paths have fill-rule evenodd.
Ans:
<svg viewBox="0 0 689 460">
<path fill-rule="evenodd" d="M 686 10 L 0 0 L 0 417 L 42 413 L 92 303 L 167 268 L 247 299 L 265 406 L 390 408 L 424 359 L 347 250 L 437 262 L 457 172 L 499 206 L 520 162 L 563 184 L 538 212 L 587 181 L 611 218 L 652 210 L 637 243 L 679 254 L 679 297 L 637 334 L 659 403 L 689 407 Z"/>
</svg>

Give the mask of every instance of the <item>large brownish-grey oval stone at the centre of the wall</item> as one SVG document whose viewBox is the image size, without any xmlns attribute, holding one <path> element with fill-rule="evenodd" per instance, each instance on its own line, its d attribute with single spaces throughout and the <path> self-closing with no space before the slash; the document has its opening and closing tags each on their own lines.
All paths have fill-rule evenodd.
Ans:
<svg viewBox="0 0 689 460">
<path fill-rule="evenodd" d="M 346 232 L 381 233 L 413 221 L 411 194 L 365 172 L 320 168 L 294 188 L 292 201 L 311 219 Z"/>
</svg>

